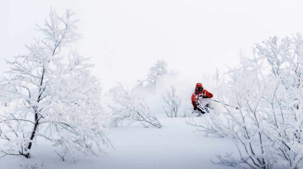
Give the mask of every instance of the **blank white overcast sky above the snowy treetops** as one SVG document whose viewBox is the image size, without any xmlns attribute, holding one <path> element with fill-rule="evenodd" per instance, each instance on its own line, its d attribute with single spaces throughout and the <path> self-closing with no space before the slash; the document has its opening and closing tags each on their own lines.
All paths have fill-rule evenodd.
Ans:
<svg viewBox="0 0 303 169">
<path fill-rule="evenodd" d="M 194 79 L 207 71 L 238 64 L 242 48 L 252 55 L 255 42 L 277 35 L 303 33 L 301 0 L 4 0 L 0 6 L 0 70 L 4 59 L 26 54 L 24 44 L 41 36 L 34 29 L 48 19 L 50 7 L 76 12 L 83 39 L 74 47 L 92 57 L 93 74 L 105 91 L 116 81 L 129 88 L 145 79 L 157 61 L 181 77 Z M 197 82 L 199 79 L 197 78 Z"/>
</svg>

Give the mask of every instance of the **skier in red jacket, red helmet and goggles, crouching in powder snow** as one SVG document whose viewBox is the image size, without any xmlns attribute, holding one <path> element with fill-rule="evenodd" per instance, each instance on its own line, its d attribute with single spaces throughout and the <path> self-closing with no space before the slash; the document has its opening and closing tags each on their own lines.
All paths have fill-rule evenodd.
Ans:
<svg viewBox="0 0 303 169">
<path fill-rule="evenodd" d="M 194 106 L 194 110 L 200 111 L 202 114 L 205 113 L 201 108 L 203 108 L 201 105 L 203 99 L 205 98 L 212 98 L 213 94 L 209 93 L 206 89 L 203 88 L 201 83 L 196 84 L 195 92 L 191 95 L 191 103 Z M 201 108 L 198 108 L 201 107 Z M 206 108 L 209 108 L 209 104 L 205 105 Z"/>
</svg>

